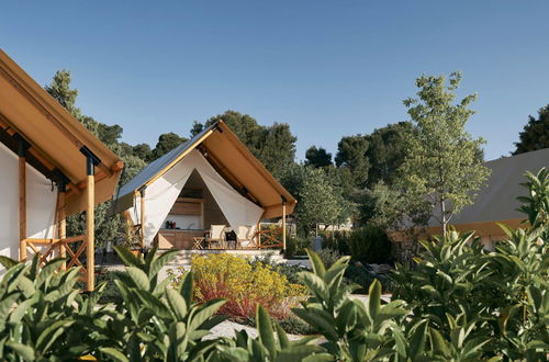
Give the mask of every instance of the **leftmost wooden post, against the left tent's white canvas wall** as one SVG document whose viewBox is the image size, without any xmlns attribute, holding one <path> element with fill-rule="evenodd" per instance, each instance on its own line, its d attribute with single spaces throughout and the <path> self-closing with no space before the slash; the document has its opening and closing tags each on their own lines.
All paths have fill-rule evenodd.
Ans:
<svg viewBox="0 0 549 362">
<path fill-rule="evenodd" d="M 19 259 L 26 261 L 26 149 L 29 143 L 15 134 L 19 156 Z"/>
</svg>

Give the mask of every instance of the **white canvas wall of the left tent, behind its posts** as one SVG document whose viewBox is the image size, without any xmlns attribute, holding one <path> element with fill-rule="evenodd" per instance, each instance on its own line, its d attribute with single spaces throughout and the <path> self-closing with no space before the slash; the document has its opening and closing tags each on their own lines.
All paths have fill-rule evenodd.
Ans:
<svg viewBox="0 0 549 362">
<path fill-rule="evenodd" d="M 0 144 L 0 254 L 19 260 L 19 160 Z M 26 236 L 53 238 L 57 189 L 26 165 Z M 0 274 L 3 267 L 0 267 Z"/>
</svg>

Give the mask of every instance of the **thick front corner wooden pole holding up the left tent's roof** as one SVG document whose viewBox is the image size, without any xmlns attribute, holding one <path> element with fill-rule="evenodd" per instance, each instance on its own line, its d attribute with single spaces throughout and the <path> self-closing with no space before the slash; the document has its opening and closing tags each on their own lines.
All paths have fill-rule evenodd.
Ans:
<svg viewBox="0 0 549 362">
<path fill-rule="evenodd" d="M 88 186 L 86 188 L 86 196 L 88 201 L 88 207 L 86 210 L 86 282 L 88 291 L 93 291 L 96 287 L 94 281 L 94 272 L 96 272 L 96 219 L 94 219 L 94 210 L 96 210 L 96 178 L 93 170 L 93 160 L 90 156 L 87 158 L 87 181 Z"/>
</svg>

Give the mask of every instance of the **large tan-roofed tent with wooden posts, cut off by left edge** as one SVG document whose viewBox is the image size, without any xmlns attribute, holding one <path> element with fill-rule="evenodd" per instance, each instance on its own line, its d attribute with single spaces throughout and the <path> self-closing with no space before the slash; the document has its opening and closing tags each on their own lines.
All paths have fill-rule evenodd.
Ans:
<svg viewBox="0 0 549 362">
<path fill-rule="evenodd" d="M 70 257 L 68 267 L 86 254 L 93 290 L 93 208 L 112 197 L 123 163 L 2 50 L 0 168 L 0 254 Z M 86 234 L 67 237 L 66 216 L 81 211 Z"/>
</svg>

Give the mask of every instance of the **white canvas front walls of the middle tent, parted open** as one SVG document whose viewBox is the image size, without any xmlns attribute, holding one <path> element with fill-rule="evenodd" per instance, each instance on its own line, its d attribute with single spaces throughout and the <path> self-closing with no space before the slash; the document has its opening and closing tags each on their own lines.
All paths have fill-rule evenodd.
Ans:
<svg viewBox="0 0 549 362">
<path fill-rule="evenodd" d="M 231 227 L 255 227 L 264 210 L 234 190 L 198 151 L 192 150 L 181 161 L 147 186 L 145 191 L 145 245 L 150 246 L 171 206 L 192 171 L 197 170 L 217 202 Z M 134 200 L 130 215 L 134 224 L 141 220 L 141 197 Z"/>
</svg>

